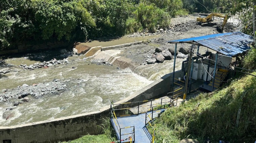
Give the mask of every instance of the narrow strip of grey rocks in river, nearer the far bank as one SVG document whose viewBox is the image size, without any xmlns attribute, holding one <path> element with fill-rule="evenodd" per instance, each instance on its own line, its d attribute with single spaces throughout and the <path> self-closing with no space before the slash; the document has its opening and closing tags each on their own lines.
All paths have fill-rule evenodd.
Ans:
<svg viewBox="0 0 256 143">
<path fill-rule="evenodd" d="M 63 59 L 63 60 L 56 60 L 56 59 L 52 59 L 51 61 L 48 61 L 48 62 L 37 62 L 37 63 L 34 63 L 34 64 L 31 64 L 31 65 L 26 65 L 26 64 L 20 64 L 19 67 L 22 67 L 24 70 L 26 69 L 30 69 L 30 70 L 34 70 L 36 68 L 42 68 L 42 67 L 50 67 L 50 66 L 56 66 L 58 64 L 67 64 L 69 63 L 68 62 L 68 58 L 66 59 Z"/>
</svg>

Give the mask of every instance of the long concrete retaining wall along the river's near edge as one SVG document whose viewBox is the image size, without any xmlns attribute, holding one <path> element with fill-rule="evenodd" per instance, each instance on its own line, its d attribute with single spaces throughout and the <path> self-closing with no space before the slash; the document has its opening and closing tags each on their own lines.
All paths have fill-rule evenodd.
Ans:
<svg viewBox="0 0 256 143">
<path fill-rule="evenodd" d="M 133 95 L 116 102 L 135 102 L 152 99 L 159 95 L 166 95 L 170 90 L 170 74 L 154 81 Z M 117 108 L 123 108 L 121 104 Z M 81 135 L 98 134 L 97 125 L 102 123 L 102 118 L 110 116 L 110 106 L 99 111 L 79 114 L 64 118 L 40 121 L 11 127 L 0 127 L 0 143 L 11 139 L 12 143 L 53 143 L 79 138 Z"/>
</svg>

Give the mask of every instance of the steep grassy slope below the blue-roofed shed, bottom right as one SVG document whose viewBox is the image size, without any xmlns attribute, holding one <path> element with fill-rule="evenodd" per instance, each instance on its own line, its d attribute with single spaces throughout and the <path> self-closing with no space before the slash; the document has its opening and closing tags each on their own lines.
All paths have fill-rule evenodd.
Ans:
<svg viewBox="0 0 256 143">
<path fill-rule="evenodd" d="M 256 72 L 252 74 L 256 75 Z M 203 141 L 209 137 L 214 142 L 219 139 L 255 142 L 255 85 L 256 78 L 248 75 L 220 91 L 200 94 L 178 108 L 168 109 L 155 122 L 158 128 L 157 141 L 173 140 L 175 137 Z"/>
</svg>

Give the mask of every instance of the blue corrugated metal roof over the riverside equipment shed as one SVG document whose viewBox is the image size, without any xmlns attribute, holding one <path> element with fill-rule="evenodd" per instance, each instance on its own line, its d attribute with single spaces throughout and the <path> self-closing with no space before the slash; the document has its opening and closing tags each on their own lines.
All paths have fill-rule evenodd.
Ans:
<svg viewBox="0 0 256 143">
<path fill-rule="evenodd" d="M 220 33 L 181 40 L 173 40 L 168 43 L 199 43 L 214 51 L 227 56 L 235 56 L 250 49 L 249 44 L 254 43 L 252 36 L 241 33 Z"/>
</svg>

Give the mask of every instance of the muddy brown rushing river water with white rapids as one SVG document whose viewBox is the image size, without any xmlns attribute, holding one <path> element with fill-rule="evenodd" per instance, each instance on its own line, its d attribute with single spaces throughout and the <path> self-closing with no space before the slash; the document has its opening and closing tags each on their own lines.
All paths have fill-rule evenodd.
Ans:
<svg viewBox="0 0 256 143">
<path fill-rule="evenodd" d="M 93 41 L 88 43 L 88 46 L 111 46 L 156 37 L 122 38 L 107 42 Z M 151 44 L 151 46 L 158 45 Z M 10 110 L 9 112 L 14 116 L 7 120 L 3 119 L 2 115 L 6 108 L 13 107 L 13 102 L 17 101 L 17 99 L 0 103 L 0 126 L 13 126 L 97 111 L 109 105 L 111 101 L 126 98 L 135 91 L 173 71 L 173 60 L 152 65 L 141 65 L 131 71 L 130 69 L 118 69 L 115 65 L 89 64 L 90 62 L 82 61 L 84 57 L 84 55 L 70 56 L 68 57 L 70 61 L 68 65 L 25 71 L 17 68 L 21 71 L 10 72 L 1 76 L 0 90 L 16 88 L 24 83 L 32 85 L 40 82 L 51 82 L 53 79 L 59 79 L 60 81 L 79 80 L 70 80 L 70 87 L 67 87 L 68 90 L 59 95 L 44 96 L 38 100 L 30 97 L 29 102 L 24 102 Z M 20 65 L 21 63 L 29 65 L 52 58 L 54 57 L 51 55 L 44 57 L 43 60 L 29 60 L 17 57 L 7 59 L 7 62 L 13 65 Z M 64 57 L 55 58 L 60 60 Z M 176 59 L 176 70 L 180 70 L 183 60 Z M 75 69 L 72 67 L 75 67 Z M 77 84 L 78 82 L 79 84 Z"/>
</svg>

